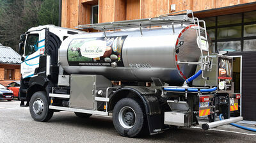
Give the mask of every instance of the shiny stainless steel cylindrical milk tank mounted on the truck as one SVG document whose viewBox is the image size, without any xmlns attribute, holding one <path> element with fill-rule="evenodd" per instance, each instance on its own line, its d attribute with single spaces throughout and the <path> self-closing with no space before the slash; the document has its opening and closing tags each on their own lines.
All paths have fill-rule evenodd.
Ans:
<svg viewBox="0 0 256 143">
<path fill-rule="evenodd" d="M 69 74 L 104 75 L 109 80 L 181 84 L 195 73 L 201 52 L 193 25 L 76 34 L 66 38 L 59 61 Z"/>
</svg>

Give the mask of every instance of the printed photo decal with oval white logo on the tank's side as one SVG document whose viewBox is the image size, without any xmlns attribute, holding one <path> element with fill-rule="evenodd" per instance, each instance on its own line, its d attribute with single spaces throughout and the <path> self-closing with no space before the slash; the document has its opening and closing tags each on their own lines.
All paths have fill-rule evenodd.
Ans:
<svg viewBox="0 0 256 143">
<path fill-rule="evenodd" d="M 74 39 L 68 46 L 70 66 L 124 66 L 122 47 L 127 36 Z"/>
</svg>

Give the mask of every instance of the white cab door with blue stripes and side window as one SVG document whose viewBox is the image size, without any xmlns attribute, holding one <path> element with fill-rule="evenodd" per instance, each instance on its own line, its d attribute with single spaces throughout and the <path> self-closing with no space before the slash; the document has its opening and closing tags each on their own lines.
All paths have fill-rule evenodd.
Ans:
<svg viewBox="0 0 256 143">
<path fill-rule="evenodd" d="M 24 61 L 20 66 L 22 78 L 33 77 L 35 68 L 39 66 L 39 57 L 44 54 L 45 45 L 45 29 L 41 31 L 33 31 L 26 35 L 24 47 Z"/>
</svg>

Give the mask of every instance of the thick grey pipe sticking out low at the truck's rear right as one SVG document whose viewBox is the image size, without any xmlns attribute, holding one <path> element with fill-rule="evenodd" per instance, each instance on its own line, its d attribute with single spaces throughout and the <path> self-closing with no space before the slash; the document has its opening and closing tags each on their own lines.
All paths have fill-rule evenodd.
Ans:
<svg viewBox="0 0 256 143">
<path fill-rule="evenodd" d="M 234 122 L 238 122 L 238 121 L 242 121 L 242 120 L 243 120 L 242 116 L 232 117 L 230 119 L 223 119 L 221 121 L 202 124 L 202 128 L 204 130 L 208 130 L 209 128 L 214 128 L 214 127 L 217 127 L 217 126 L 221 126 L 221 125 L 224 125 L 224 124 L 230 124 L 230 123 L 234 123 Z"/>
</svg>

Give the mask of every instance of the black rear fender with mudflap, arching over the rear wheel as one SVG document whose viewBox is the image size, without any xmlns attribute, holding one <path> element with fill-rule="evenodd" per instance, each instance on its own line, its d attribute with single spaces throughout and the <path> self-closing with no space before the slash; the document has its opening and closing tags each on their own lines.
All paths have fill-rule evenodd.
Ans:
<svg viewBox="0 0 256 143">
<path fill-rule="evenodd" d="M 150 135 L 163 131 L 163 116 L 157 99 L 157 93 L 150 91 L 147 87 L 122 87 L 113 93 L 109 100 L 109 110 L 112 110 L 115 103 L 125 97 L 138 97 L 145 107 Z"/>
</svg>

